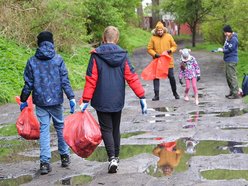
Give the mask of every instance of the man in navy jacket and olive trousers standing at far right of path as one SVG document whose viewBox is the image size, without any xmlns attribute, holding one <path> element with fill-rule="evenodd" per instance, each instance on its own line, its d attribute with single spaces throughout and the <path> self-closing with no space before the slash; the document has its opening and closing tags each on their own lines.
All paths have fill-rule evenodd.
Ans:
<svg viewBox="0 0 248 186">
<path fill-rule="evenodd" d="M 228 87 L 230 89 L 229 94 L 226 95 L 228 99 L 239 99 L 238 78 L 237 78 L 237 65 L 238 65 L 238 36 L 233 32 L 230 25 L 226 25 L 223 28 L 226 40 L 223 48 L 218 48 L 219 52 L 223 52 L 225 62 L 225 73 Z"/>
</svg>

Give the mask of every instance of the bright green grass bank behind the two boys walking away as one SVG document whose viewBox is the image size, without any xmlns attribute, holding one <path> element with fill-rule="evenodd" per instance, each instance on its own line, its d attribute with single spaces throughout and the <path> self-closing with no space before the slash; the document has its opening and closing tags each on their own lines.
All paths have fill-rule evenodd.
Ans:
<svg viewBox="0 0 248 186">
<path fill-rule="evenodd" d="M 129 28 L 124 49 L 132 51 L 147 45 L 150 32 L 138 28 Z M 125 34 L 125 33 L 123 33 Z M 85 83 L 85 72 L 89 62 L 90 48 L 83 45 L 71 53 L 58 52 L 64 59 L 69 72 L 69 79 L 74 90 L 81 90 Z M 27 60 L 34 55 L 35 48 L 18 45 L 15 41 L 0 36 L 0 104 L 15 102 L 15 96 L 20 95 L 24 85 L 23 72 Z"/>
</svg>

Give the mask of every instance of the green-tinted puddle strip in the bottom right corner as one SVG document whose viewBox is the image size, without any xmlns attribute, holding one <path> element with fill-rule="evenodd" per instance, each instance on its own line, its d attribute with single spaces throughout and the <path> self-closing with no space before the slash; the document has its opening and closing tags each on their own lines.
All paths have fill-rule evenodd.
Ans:
<svg viewBox="0 0 248 186">
<path fill-rule="evenodd" d="M 246 179 L 248 180 L 248 170 L 226 170 L 215 169 L 202 171 L 202 176 L 209 180 L 232 180 L 232 179 Z"/>
</svg>

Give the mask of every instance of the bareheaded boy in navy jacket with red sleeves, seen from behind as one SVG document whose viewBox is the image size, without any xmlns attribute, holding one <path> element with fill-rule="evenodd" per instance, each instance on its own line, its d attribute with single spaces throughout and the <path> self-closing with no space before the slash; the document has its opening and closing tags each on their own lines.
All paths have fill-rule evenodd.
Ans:
<svg viewBox="0 0 248 186">
<path fill-rule="evenodd" d="M 119 31 L 108 26 L 103 44 L 91 52 L 82 95 L 82 112 L 89 101 L 96 110 L 103 142 L 109 158 L 108 173 L 116 173 L 120 153 L 120 121 L 125 101 L 125 81 L 140 98 L 142 113 L 146 114 L 145 91 L 132 67 L 128 54 L 117 45 Z"/>
</svg>

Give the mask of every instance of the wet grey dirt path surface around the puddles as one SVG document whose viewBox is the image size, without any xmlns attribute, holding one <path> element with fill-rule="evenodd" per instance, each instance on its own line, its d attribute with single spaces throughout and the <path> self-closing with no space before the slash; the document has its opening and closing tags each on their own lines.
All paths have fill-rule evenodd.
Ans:
<svg viewBox="0 0 248 186">
<path fill-rule="evenodd" d="M 183 46 L 180 45 L 179 48 Z M 159 144 L 180 138 L 194 138 L 195 140 L 220 140 L 248 143 L 247 114 L 235 115 L 234 117 L 216 117 L 212 113 L 226 112 L 232 109 L 244 109 L 247 105 L 242 99 L 228 100 L 225 94 L 228 87 L 224 75 L 222 55 L 206 51 L 192 51 L 201 68 L 201 80 L 198 82 L 200 104 L 194 104 L 192 89 L 190 90 L 190 101 L 183 100 L 184 88 L 178 83 L 178 59 L 179 54 L 175 53 L 175 77 L 177 80 L 180 99 L 175 100 L 169 85 L 168 79 L 160 83 L 161 92 L 159 101 L 151 101 L 153 97 L 153 85 L 151 81 L 142 80 L 146 91 L 148 104 L 148 115 L 141 115 L 139 100 L 127 87 L 126 103 L 123 109 L 121 133 L 145 131 L 147 133 L 122 139 L 122 145 L 134 144 Z M 151 57 L 144 48 L 137 49 L 131 57 L 132 63 L 138 74 L 142 72 Z M 77 100 L 82 90 L 76 91 Z M 65 109 L 68 111 L 68 101 L 65 102 Z M 168 108 L 166 114 L 156 108 Z M 0 107 L 0 125 L 14 123 L 19 115 L 19 108 L 16 104 L 7 104 Z M 90 107 L 93 113 L 94 110 Z M 193 128 L 184 127 L 192 112 L 197 112 L 199 120 L 194 121 Z M 164 114 L 158 122 L 156 116 Z M 155 119 L 154 119 L 155 118 Z M 162 137 L 162 138 L 161 138 Z M 155 141 L 154 138 L 161 138 Z M 4 139 L 1 139 L 4 140 Z M 56 148 L 54 148 L 56 150 Z M 28 152 L 26 155 L 28 156 Z M 31 152 L 32 156 L 39 157 L 39 151 Z M 235 163 L 232 163 L 235 159 Z M 235 180 L 207 180 L 201 176 L 204 170 L 231 169 L 248 171 L 247 154 L 221 154 L 217 156 L 194 156 L 190 159 L 189 169 L 182 173 L 175 173 L 170 177 L 153 177 L 146 174 L 147 167 L 156 164 L 158 158 L 150 154 L 140 154 L 128 159 L 121 160 L 117 174 L 107 173 L 107 163 L 87 161 L 75 154 L 71 156 L 72 163 L 68 169 L 60 167 L 60 162 L 52 164 L 53 171 L 48 175 L 39 176 L 39 161 L 22 161 L 19 163 L 0 162 L 0 180 L 3 178 L 18 178 L 22 175 L 30 175 L 33 179 L 23 185 L 56 185 L 59 180 L 77 175 L 88 175 L 93 180 L 85 185 L 248 185 L 244 179 Z M 69 183 L 73 185 L 73 183 Z M 80 185 L 80 184 L 79 184 Z M 82 184 L 81 184 L 82 185 Z"/>
</svg>

